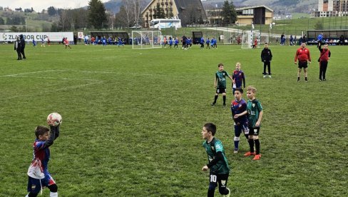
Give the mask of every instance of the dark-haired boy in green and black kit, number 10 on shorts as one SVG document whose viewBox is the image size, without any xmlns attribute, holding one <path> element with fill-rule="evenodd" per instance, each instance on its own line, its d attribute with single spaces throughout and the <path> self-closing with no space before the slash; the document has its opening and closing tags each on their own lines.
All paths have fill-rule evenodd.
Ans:
<svg viewBox="0 0 348 197">
<path fill-rule="evenodd" d="M 203 166 L 202 171 L 210 169 L 208 197 L 214 196 L 215 188 L 218 185 L 220 194 L 230 196 L 230 189 L 227 188 L 230 167 L 225 156 L 225 149 L 221 141 L 214 137 L 215 133 L 215 124 L 205 123 L 202 129 L 202 137 L 205 139 L 203 147 L 208 154 L 208 164 Z"/>
</svg>

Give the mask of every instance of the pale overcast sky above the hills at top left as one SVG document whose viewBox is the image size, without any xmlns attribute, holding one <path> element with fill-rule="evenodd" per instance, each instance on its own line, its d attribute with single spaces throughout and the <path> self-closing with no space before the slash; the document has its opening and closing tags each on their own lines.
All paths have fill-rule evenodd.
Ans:
<svg viewBox="0 0 348 197">
<path fill-rule="evenodd" d="M 10 9 L 20 8 L 21 9 L 33 9 L 35 11 L 42 11 L 47 9 L 49 6 L 61 9 L 76 9 L 88 5 L 89 0 L 0 0 L 0 6 Z M 103 3 L 109 0 L 101 0 Z"/>
</svg>

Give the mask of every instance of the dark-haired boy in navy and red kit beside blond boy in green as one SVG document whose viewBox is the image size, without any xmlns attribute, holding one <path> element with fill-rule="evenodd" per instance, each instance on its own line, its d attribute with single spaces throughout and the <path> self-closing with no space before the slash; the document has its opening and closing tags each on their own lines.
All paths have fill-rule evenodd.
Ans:
<svg viewBox="0 0 348 197">
<path fill-rule="evenodd" d="M 235 89 L 235 100 L 231 102 L 232 118 L 235 126 L 235 150 L 233 153 L 238 153 L 239 151 L 240 133 L 243 131 L 246 138 L 248 138 L 249 134 L 249 128 L 247 126 L 247 103 L 242 99 L 242 95 L 242 89 Z"/>
</svg>

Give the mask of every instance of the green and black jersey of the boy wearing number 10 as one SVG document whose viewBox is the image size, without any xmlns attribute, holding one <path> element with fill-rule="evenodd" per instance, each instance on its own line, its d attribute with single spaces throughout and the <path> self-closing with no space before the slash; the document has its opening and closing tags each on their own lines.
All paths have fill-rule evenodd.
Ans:
<svg viewBox="0 0 348 197">
<path fill-rule="evenodd" d="M 215 165 L 210 167 L 210 172 L 216 174 L 230 173 L 230 167 L 228 166 L 225 149 L 223 148 L 220 140 L 213 138 L 213 141 L 210 141 L 210 143 L 204 141 L 203 147 L 205 148 L 205 151 L 207 151 L 209 163 L 213 161 L 218 152 L 221 152 L 223 156 L 223 159 L 219 160 Z"/>
</svg>

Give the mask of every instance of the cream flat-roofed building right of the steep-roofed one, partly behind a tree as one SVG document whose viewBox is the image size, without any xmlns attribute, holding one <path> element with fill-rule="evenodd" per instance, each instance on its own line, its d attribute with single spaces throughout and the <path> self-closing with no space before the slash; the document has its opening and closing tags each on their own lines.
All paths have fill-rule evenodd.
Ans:
<svg viewBox="0 0 348 197">
<path fill-rule="evenodd" d="M 222 24 L 222 9 L 206 10 L 210 24 Z M 236 24 L 271 24 L 274 11 L 267 6 L 247 6 L 236 8 Z"/>
</svg>

